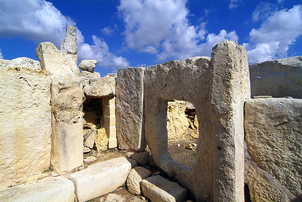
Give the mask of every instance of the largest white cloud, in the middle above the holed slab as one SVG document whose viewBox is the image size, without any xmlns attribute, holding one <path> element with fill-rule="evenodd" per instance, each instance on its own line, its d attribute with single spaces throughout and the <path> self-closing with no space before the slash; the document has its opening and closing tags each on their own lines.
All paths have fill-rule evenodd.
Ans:
<svg viewBox="0 0 302 202">
<path fill-rule="evenodd" d="M 210 56 L 213 43 L 215 46 L 223 39 L 238 40 L 235 31 L 207 35 L 206 23 L 192 26 L 186 3 L 187 0 L 121 0 L 117 9 L 124 21 L 127 47 L 156 54 L 158 61 L 163 62 Z"/>
</svg>

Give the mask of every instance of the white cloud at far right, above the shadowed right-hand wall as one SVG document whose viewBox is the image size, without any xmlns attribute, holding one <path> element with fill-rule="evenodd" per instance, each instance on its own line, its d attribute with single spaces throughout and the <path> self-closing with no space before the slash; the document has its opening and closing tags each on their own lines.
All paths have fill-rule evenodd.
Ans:
<svg viewBox="0 0 302 202">
<path fill-rule="evenodd" d="M 289 47 L 301 34 L 302 5 L 271 12 L 259 29 L 250 31 L 250 42 L 243 43 L 249 64 L 287 57 Z"/>
</svg>

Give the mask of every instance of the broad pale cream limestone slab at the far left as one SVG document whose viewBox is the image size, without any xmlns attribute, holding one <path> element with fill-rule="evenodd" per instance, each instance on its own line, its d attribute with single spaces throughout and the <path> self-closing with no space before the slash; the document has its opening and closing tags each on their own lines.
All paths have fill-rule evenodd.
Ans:
<svg viewBox="0 0 302 202">
<path fill-rule="evenodd" d="M 50 72 L 0 69 L 0 183 L 50 166 Z"/>
</svg>

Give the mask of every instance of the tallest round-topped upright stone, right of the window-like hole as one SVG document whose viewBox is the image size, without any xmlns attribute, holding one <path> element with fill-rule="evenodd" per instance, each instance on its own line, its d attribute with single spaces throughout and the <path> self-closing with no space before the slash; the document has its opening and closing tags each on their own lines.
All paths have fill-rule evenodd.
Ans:
<svg viewBox="0 0 302 202">
<path fill-rule="evenodd" d="M 214 200 L 244 201 L 243 106 L 244 101 L 250 98 L 246 49 L 234 41 L 218 43 L 212 49 L 211 67 Z"/>
</svg>

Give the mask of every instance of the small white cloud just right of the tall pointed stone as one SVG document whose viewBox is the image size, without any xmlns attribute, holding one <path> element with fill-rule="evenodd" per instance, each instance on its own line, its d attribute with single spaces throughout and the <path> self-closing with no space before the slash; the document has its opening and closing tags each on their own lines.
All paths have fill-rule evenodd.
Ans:
<svg viewBox="0 0 302 202">
<path fill-rule="evenodd" d="M 129 62 L 126 58 L 116 56 L 109 52 L 109 47 L 104 39 L 100 39 L 92 35 L 94 45 L 87 43 L 79 44 L 79 61 L 84 59 L 97 60 L 97 65 L 109 68 L 124 68 L 129 67 Z"/>
</svg>

